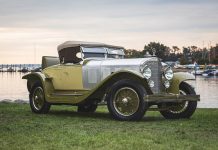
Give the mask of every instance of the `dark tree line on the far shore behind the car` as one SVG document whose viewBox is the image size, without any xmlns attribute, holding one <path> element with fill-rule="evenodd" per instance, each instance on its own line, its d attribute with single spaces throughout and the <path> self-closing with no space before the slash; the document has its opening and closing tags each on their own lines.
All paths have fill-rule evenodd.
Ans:
<svg viewBox="0 0 218 150">
<path fill-rule="evenodd" d="M 127 58 L 143 58 L 145 55 L 156 55 L 162 61 L 179 61 L 180 64 L 218 64 L 218 44 L 210 48 L 200 48 L 197 46 L 182 47 L 166 46 L 159 42 L 150 42 L 144 46 L 144 50 L 127 49 L 125 50 Z"/>
</svg>

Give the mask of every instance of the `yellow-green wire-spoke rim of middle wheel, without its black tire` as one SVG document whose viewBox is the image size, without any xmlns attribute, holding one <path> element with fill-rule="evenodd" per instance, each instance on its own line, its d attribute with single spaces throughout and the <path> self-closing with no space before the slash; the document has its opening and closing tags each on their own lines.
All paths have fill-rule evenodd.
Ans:
<svg viewBox="0 0 218 150">
<path fill-rule="evenodd" d="M 117 113 L 123 116 L 131 116 L 139 108 L 139 96 L 137 92 L 130 87 L 119 89 L 113 99 L 113 105 Z"/>
</svg>

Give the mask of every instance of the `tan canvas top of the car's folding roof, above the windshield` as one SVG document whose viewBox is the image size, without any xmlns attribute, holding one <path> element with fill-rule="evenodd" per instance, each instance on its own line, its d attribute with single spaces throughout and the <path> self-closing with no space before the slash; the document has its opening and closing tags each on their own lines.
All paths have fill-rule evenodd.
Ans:
<svg viewBox="0 0 218 150">
<path fill-rule="evenodd" d="M 68 47 L 78 47 L 78 46 L 84 46 L 84 47 L 111 47 L 111 48 L 118 48 L 118 49 L 124 49 L 121 46 L 114 46 L 114 45 L 108 45 L 104 43 L 97 43 L 97 42 L 84 42 L 84 41 L 66 41 L 63 44 L 58 46 L 58 51 L 68 48 Z"/>
</svg>

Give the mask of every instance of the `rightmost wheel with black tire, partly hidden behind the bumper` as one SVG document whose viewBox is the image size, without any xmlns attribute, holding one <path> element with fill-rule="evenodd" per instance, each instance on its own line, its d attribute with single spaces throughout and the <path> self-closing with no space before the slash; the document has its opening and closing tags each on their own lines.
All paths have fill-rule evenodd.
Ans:
<svg viewBox="0 0 218 150">
<path fill-rule="evenodd" d="M 196 95 L 195 90 L 186 82 L 182 82 L 179 86 L 179 89 L 185 92 L 186 95 Z M 197 101 L 186 101 L 185 103 L 179 103 L 179 104 L 165 103 L 159 105 L 158 107 L 160 109 L 163 107 L 170 107 L 168 110 L 160 111 L 160 113 L 166 119 L 190 118 L 197 108 Z M 176 111 L 175 108 L 177 109 Z"/>
</svg>

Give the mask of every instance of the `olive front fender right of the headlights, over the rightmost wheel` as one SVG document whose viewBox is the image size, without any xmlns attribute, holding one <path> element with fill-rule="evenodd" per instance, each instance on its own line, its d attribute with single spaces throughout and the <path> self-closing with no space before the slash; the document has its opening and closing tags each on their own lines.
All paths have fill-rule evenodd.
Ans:
<svg viewBox="0 0 218 150">
<path fill-rule="evenodd" d="M 195 80 L 195 76 L 187 72 L 176 72 L 174 73 L 171 81 L 171 86 L 168 89 L 169 93 L 179 94 L 179 85 L 181 82 L 186 80 Z"/>
</svg>

